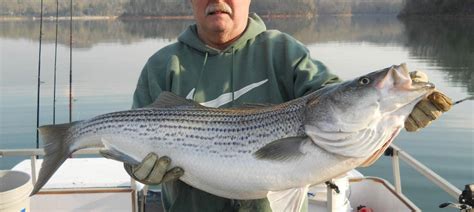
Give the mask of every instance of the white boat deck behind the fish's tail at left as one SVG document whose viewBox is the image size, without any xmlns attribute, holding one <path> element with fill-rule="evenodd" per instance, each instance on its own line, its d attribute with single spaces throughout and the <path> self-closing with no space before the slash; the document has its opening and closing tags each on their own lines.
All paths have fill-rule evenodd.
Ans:
<svg viewBox="0 0 474 212">
<path fill-rule="evenodd" d="M 40 167 L 42 160 L 36 160 Z M 12 170 L 31 173 L 31 161 Z M 36 176 L 39 172 L 36 169 Z M 132 181 L 123 164 L 105 158 L 71 158 L 30 199 L 35 211 L 138 211 L 136 191 L 143 185 Z"/>
</svg>

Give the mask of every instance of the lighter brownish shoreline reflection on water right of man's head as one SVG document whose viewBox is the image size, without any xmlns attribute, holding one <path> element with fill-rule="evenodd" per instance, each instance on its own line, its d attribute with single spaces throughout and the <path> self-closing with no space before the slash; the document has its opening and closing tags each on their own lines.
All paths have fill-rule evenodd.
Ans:
<svg viewBox="0 0 474 212">
<path fill-rule="evenodd" d="M 315 19 L 265 20 L 267 27 L 305 44 L 325 42 L 402 43 L 403 26 L 392 16 L 319 16 Z"/>
</svg>

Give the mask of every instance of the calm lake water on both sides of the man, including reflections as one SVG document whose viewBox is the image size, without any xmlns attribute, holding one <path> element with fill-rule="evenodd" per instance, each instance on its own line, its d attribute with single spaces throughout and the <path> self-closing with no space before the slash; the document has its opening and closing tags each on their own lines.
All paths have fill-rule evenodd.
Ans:
<svg viewBox="0 0 474 212">
<path fill-rule="evenodd" d="M 128 109 L 142 66 L 174 42 L 190 20 L 75 21 L 73 23 L 72 119 Z M 474 94 L 474 21 L 395 17 L 319 17 L 266 20 L 302 41 L 313 58 L 343 79 L 405 62 L 425 71 L 453 100 Z M 53 123 L 53 21 L 44 23 L 40 123 Z M 39 21 L 0 21 L 0 149 L 36 146 Z M 69 120 L 69 23 L 58 38 L 56 123 Z M 395 144 L 459 189 L 474 183 L 474 104 L 456 105 L 416 133 L 402 132 Z M 1 158 L 8 169 L 23 158 Z M 403 192 L 426 211 L 451 197 L 402 163 Z M 382 157 L 365 175 L 393 182 L 390 159 Z"/>
</svg>

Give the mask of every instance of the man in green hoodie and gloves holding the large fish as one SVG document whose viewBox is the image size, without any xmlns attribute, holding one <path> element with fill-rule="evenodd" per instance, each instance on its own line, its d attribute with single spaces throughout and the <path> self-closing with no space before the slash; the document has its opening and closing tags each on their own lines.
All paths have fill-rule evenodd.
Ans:
<svg viewBox="0 0 474 212">
<path fill-rule="evenodd" d="M 338 81 L 322 63 L 311 59 L 300 42 L 266 30 L 257 15 L 249 15 L 250 0 L 191 2 L 196 25 L 183 32 L 177 43 L 148 60 L 134 94 L 134 108 L 151 104 L 162 91 L 209 107 L 281 103 Z M 412 117 L 411 130 L 426 126 L 440 115 L 430 101 L 424 105 L 435 111 L 434 115 Z M 378 151 L 365 165 L 382 153 Z M 225 199 L 176 180 L 185 170 L 173 167 L 166 171 L 171 160 L 149 154 L 138 166 L 125 165 L 140 182 L 162 183 L 166 211 L 271 211 L 267 199 Z"/>
</svg>

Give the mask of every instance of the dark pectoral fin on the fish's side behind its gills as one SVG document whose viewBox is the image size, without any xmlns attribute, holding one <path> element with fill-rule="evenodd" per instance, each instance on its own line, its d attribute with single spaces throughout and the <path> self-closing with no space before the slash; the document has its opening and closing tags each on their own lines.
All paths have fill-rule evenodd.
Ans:
<svg viewBox="0 0 474 212">
<path fill-rule="evenodd" d="M 272 141 L 254 153 L 254 156 L 263 160 L 288 161 L 304 155 L 301 146 L 308 142 L 308 136 L 294 136 Z"/>
</svg>

